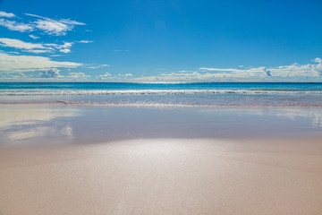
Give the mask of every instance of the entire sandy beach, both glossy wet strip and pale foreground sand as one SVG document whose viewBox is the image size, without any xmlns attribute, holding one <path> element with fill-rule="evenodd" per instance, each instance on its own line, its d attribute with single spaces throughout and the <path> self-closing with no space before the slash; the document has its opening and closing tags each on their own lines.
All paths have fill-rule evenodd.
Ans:
<svg viewBox="0 0 322 215">
<path fill-rule="evenodd" d="M 184 112 L 173 108 L 23 107 L 29 115 L 21 113 L 20 106 L 1 108 L 1 214 L 322 211 L 318 108 L 195 108 Z M 90 113 L 123 130 L 109 133 L 110 139 L 102 133 L 95 137 L 97 127 L 110 131 L 113 126 L 90 128 Z M 148 117 L 138 120 L 144 115 Z M 125 120 L 125 116 L 132 119 Z M 278 124 L 279 120 L 284 124 Z M 76 126 L 80 123 L 87 123 L 86 133 Z M 155 126 L 148 130 L 144 125 Z M 256 133 L 262 130 L 265 133 Z M 288 130 L 298 136 L 285 134 Z M 119 138 L 123 132 L 130 137 Z M 85 136 L 83 142 L 76 138 Z"/>
</svg>

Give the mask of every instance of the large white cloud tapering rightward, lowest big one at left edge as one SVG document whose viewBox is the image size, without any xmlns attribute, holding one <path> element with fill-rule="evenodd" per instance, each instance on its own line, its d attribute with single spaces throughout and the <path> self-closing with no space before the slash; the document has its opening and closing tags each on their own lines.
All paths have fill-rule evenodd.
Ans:
<svg viewBox="0 0 322 215">
<path fill-rule="evenodd" d="M 58 62 L 44 56 L 13 56 L 0 52 L 0 72 L 21 73 L 51 68 L 76 68 L 80 63 Z"/>
</svg>

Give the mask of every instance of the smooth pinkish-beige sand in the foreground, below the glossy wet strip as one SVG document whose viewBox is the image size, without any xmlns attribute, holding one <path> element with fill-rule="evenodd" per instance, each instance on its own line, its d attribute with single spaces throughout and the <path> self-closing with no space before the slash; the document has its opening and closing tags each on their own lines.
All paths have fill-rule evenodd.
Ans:
<svg viewBox="0 0 322 215">
<path fill-rule="evenodd" d="M 33 215 L 320 214 L 321 140 L 139 139 L 1 150 L 0 208 Z"/>
</svg>

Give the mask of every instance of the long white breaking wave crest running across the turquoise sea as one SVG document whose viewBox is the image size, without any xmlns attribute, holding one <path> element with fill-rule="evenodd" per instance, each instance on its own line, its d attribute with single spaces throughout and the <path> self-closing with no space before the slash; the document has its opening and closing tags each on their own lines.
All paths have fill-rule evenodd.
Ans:
<svg viewBox="0 0 322 215">
<path fill-rule="evenodd" d="M 177 95 L 177 94 L 322 94 L 312 90 L 0 90 L 0 96 Z"/>
</svg>

